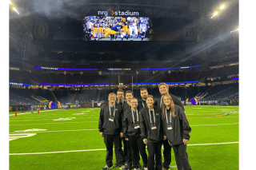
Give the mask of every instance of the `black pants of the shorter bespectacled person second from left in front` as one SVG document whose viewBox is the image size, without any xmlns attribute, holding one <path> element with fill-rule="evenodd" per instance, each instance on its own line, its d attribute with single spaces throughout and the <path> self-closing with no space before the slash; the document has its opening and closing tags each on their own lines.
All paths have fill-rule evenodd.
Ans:
<svg viewBox="0 0 256 170">
<path fill-rule="evenodd" d="M 146 144 L 144 144 L 142 138 L 140 136 L 128 136 L 131 150 L 131 158 L 133 160 L 134 168 L 139 168 L 139 152 L 142 156 L 142 161 L 144 164 L 144 168 L 147 168 L 147 155 L 146 155 Z"/>
</svg>

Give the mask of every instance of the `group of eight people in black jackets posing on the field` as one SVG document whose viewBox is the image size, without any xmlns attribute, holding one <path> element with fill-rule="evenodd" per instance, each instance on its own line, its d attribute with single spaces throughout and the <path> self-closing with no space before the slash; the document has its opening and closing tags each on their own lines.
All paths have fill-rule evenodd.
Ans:
<svg viewBox="0 0 256 170">
<path fill-rule="evenodd" d="M 178 97 L 169 93 L 169 85 L 161 83 L 158 89 L 162 95 L 158 99 L 149 95 L 147 89 L 140 89 L 140 101 L 130 90 L 124 93 L 118 89 L 117 94 L 109 94 L 109 103 L 102 105 L 98 121 L 98 130 L 106 144 L 106 166 L 102 170 L 113 166 L 113 144 L 114 167 L 122 170 L 142 169 L 140 156 L 146 170 L 170 169 L 171 148 L 178 170 L 191 169 L 186 153 L 191 128 L 185 109 Z"/>
</svg>

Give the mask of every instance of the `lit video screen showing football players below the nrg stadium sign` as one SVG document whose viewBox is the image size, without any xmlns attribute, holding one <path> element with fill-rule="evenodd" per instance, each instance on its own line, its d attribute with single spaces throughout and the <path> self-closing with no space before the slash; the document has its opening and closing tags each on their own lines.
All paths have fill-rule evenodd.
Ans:
<svg viewBox="0 0 256 170">
<path fill-rule="evenodd" d="M 86 16 L 86 41 L 150 41 L 151 20 L 146 17 Z"/>
</svg>

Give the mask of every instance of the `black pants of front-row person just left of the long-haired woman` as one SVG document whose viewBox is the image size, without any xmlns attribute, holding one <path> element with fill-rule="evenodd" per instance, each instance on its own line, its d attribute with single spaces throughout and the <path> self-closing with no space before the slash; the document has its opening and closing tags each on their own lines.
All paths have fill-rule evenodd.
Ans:
<svg viewBox="0 0 256 170">
<path fill-rule="evenodd" d="M 149 170 L 162 170 L 162 142 L 148 142 L 147 151 L 149 156 L 147 159 L 147 168 Z M 155 168 L 154 168 L 154 155 L 155 155 Z"/>
</svg>

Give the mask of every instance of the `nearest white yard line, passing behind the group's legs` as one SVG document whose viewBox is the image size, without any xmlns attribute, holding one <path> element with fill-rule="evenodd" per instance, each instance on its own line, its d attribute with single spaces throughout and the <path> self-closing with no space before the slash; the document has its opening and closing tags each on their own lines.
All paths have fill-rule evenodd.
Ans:
<svg viewBox="0 0 256 170">
<path fill-rule="evenodd" d="M 210 143 L 210 144 L 187 144 L 188 146 L 204 146 L 213 144 L 238 144 L 239 142 L 225 142 L 225 143 Z M 56 152 L 30 152 L 30 153 L 9 153 L 10 156 L 14 155 L 39 155 L 39 154 L 50 154 L 50 153 L 66 153 L 66 152 L 88 152 L 88 151 L 106 151 L 106 148 L 98 149 L 84 149 L 84 150 L 71 150 L 71 151 L 56 151 Z"/>
</svg>

